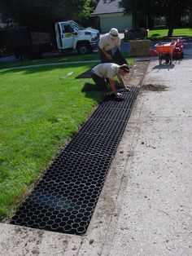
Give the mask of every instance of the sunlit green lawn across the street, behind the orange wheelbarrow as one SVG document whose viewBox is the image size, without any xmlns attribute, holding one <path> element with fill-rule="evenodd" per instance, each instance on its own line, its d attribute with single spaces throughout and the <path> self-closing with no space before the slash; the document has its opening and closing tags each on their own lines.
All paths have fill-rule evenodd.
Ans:
<svg viewBox="0 0 192 256">
<path fill-rule="evenodd" d="M 150 39 L 159 39 L 167 37 L 168 29 L 156 29 L 149 31 Z M 190 29 L 174 29 L 172 33 L 173 37 L 192 38 L 192 28 Z"/>
</svg>

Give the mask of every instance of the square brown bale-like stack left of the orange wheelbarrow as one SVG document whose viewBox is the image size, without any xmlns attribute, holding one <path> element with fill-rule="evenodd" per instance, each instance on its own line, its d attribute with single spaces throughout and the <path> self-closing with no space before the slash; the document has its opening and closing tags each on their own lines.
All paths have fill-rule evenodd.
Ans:
<svg viewBox="0 0 192 256">
<path fill-rule="evenodd" d="M 147 57 L 150 55 L 150 40 L 135 40 L 130 42 L 130 57 Z"/>
</svg>

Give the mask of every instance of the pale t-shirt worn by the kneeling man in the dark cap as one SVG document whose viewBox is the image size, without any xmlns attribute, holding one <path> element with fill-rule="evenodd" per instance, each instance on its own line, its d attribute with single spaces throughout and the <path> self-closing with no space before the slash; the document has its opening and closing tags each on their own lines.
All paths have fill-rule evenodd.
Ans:
<svg viewBox="0 0 192 256">
<path fill-rule="evenodd" d="M 98 75 L 98 77 L 113 79 L 113 77 L 116 77 L 116 76 L 121 78 L 121 76 L 118 73 L 119 69 L 120 69 L 120 66 L 118 64 L 102 63 L 92 68 L 92 71 L 96 75 Z"/>
</svg>

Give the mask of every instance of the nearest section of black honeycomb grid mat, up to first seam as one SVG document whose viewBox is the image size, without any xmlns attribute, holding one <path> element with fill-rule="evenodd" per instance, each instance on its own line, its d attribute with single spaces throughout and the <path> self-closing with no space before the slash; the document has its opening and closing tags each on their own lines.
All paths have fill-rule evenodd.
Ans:
<svg viewBox="0 0 192 256">
<path fill-rule="evenodd" d="M 103 187 L 111 155 L 63 152 L 11 223 L 72 234 L 84 233 Z"/>
</svg>

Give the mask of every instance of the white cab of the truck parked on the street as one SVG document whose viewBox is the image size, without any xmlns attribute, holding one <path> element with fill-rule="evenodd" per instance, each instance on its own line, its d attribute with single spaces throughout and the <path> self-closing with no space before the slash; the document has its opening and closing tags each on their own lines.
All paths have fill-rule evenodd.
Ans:
<svg viewBox="0 0 192 256">
<path fill-rule="evenodd" d="M 55 23 L 56 42 L 59 51 L 74 51 L 85 55 L 98 47 L 99 31 L 85 29 L 73 20 Z"/>
</svg>

